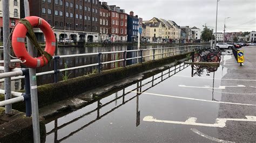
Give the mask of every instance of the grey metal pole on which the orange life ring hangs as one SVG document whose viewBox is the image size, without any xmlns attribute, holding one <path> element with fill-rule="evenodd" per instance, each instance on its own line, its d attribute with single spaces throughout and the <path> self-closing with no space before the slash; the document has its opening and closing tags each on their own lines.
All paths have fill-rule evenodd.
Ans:
<svg viewBox="0 0 256 143">
<path fill-rule="evenodd" d="M 29 1 L 24 1 L 25 17 L 30 16 Z M 27 38 L 28 52 L 31 56 L 35 56 L 35 51 L 32 42 Z M 39 130 L 39 113 L 38 113 L 38 98 L 37 98 L 37 82 L 36 82 L 36 69 L 29 68 L 30 78 L 30 91 L 31 91 L 31 106 L 32 106 L 32 124 L 33 124 L 33 141 L 40 142 Z"/>
</svg>

